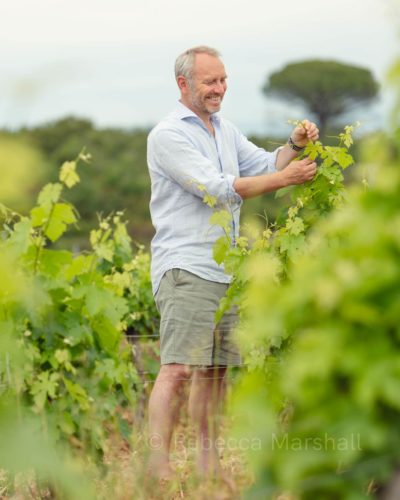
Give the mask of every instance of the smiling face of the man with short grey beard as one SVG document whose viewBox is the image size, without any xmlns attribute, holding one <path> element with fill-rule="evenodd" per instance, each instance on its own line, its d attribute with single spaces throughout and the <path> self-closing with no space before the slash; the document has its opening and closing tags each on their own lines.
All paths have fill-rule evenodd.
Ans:
<svg viewBox="0 0 400 500">
<path fill-rule="evenodd" d="M 193 77 L 188 80 L 184 104 L 201 118 L 208 118 L 221 108 L 227 88 L 226 78 L 220 59 L 209 54 L 196 54 Z"/>
</svg>

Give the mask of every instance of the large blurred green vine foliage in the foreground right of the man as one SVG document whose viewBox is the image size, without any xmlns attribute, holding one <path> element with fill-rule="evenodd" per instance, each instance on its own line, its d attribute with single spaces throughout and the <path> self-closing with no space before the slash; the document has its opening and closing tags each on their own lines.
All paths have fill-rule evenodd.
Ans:
<svg viewBox="0 0 400 500">
<path fill-rule="evenodd" d="M 400 64 L 392 78 L 398 90 Z M 400 498 L 398 112 L 391 136 L 364 145 L 368 179 L 341 207 L 311 227 L 306 186 L 264 248 L 244 246 L 244 264 L 243 250 L 218 249 L 244 284 L 230 300 L 240 297 L 249 365 L 232 411 L 239 435 L 259 442 L 246 499 Z"/>
</svg>

